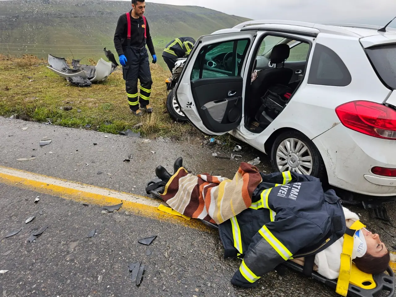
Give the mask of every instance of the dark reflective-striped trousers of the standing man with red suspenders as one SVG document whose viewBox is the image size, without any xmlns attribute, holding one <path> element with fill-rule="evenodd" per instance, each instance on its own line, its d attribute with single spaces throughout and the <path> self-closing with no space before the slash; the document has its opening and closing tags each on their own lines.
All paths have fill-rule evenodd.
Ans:
<svg viewBox="0 0 396 297">
<path fill-rule="evenodd" d="M 138 110 L 139 103 L 141 107 L 150 103 L 152 79 L 147 49 L 129 47 L 124 50 L 124 55 L 127 59 L 127 65 L 122 67 L 122 74 L 125 80 L 129 108 L 131 110 Z M 139 98 L 137 93 L 138 79 L 140 80 Z"/>
</svg>

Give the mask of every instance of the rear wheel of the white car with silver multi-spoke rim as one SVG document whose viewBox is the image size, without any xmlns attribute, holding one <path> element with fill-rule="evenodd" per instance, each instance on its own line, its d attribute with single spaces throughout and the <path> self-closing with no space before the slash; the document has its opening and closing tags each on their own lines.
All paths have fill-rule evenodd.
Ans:
<svg viewBox="0 0 396 297">
<path fill-rule="evenodd" d="M 299 131 L 286 131 L 276 137 L 271 150 L 271 164 L 276 172 L 291 170 L 308 173 L 322 181 L 327 179 L 326 166 L 318 148 Z"/>
</svg>

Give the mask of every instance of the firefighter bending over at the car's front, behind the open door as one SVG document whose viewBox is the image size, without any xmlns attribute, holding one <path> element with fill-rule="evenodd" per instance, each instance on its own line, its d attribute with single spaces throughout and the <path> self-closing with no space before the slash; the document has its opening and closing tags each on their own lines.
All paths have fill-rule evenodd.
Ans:
<svg viewBox="0 0 396 297">
<path fill-rule="evenodd" d="M 186 58 L 194 47 L 195 40 L 192 37 L 179 37 L 169 42 L 162 52 L 162 57 L 169 70 L 175 67 L 178 58 Z"/>
</svg>

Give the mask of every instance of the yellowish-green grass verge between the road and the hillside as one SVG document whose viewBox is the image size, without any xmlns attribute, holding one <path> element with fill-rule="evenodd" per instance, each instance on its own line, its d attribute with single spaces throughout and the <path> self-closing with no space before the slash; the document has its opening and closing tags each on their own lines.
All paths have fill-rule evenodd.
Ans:
<svg viewBox="0 0 396 297">
<path fill-rule="evenodd" d="M 69 61 L 71 62 L 71 61 Z M 94 65 L 96 61 L 82 61 Z M 35 122 L 84 128 L 87 124 L 107 133 L 132 129 L 142 123 L 142 135 L 181 139 L 198 131 L 189 124 L 175 123 L 166 113 L 166 84 L 169 75 L 159 65 L 151 64 L 153 80 L 150 105 L 152 114 L 138 118 L 129 111 L 125 82 L 120 69 L 107 80 L 89 88 L 70 85 L 64 78 L 51 72 L 43 59 L 32 55 L 11 57 L 0 54 L 0 115 Z M 70 106 L 66 111 L 61 107 Z"/>
</svg>

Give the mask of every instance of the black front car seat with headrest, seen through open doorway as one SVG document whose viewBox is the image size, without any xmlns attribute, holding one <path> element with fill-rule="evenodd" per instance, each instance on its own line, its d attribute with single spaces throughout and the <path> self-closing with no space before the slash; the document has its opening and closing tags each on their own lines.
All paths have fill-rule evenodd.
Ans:
<svg viewBox="0 0 396 297">
<path fill-rule="evenodd" d="M 255 113 L 261 105 L 260 98 L 265 95 L 268 88 L 276 84 L 287 86 L 293 76 L 293 70 L 285 67 L 285 60 L 290 55 L 290 48 L 287 44 L 277 44 L 271 52 L 270 63 L 275 68 L 261 71 L 251 84 L 251 112 Z M 278 64 L 282 67 L 278 68 Z M 252 115 L 254 117 L 254 115 Z"/>
</svg>

